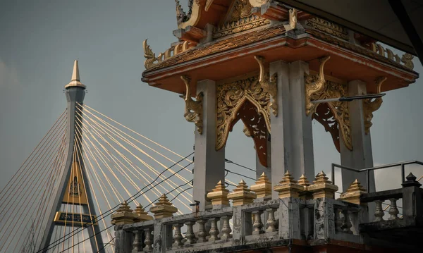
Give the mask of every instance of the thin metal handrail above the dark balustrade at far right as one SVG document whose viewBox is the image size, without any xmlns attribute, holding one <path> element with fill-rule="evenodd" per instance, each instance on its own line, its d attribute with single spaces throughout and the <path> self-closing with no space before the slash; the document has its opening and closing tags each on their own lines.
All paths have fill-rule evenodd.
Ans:
<svg viewBox="0 0 423 253">
<path fill-rule="evenodd" d="M 354 171 L 357 173 L 362 173 L 365 172 L 366 173 L 366 189 L 367 192 L 369 192 L 369 185 L 370 185 L 370 171 L 376 171 L 382 168 L 393 168 L 393 167 L 398 167 L 401 166 L 401 180 L 402 182 L 405 182 L 405 166 L 409 165 L 409 164 L 419 164 L 421 166 L 423 166 L 423 162 L 422 161 L 402 161 L 399 163 L 391 163 L 391 164 L 386 164 L 386 165 L 381 165 L 381 166 L 375 166 L 372 168 L 362 168 L 362 169 L 357 169 L 357 168 L 350 168 L 347 166 L 342 166 L 336 163 L 332 163 L 332 168 L 331 168 L 331 177 L 332 177 L 332 183 L 333 185 L 335 185 L 335 168 L 341 168 L 345 169 L 347 171 Z M 419 179 L 420 180 L 420 179 Z"/>
</svg>

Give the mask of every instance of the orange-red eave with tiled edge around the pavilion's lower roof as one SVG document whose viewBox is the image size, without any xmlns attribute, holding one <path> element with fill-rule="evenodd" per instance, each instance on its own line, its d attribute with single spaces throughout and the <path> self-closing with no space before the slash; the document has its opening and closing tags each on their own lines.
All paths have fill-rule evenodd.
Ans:
<svg viewBox="0 0 423 253">
<path fill-rule="evenodd" d="M 277 28 L 272 27 L 271 29 L 276 31 Z M 270 28 L 266 29 L 266 31 L 269 30 Z M 330 39 L 333 41 L 335 38 L 331 37 Z M 233 40 L 233 38 L 228 38 L 220 41 L 219 49 L 223 47 L 222 44 L 233 44 Z M 291 62 L 298 59 L 307 61 L 310 69 L 314 71 L 319 68 L 317 58 L 330 55 L 332 60 L 326 65 L 326 75 L 336 73 L 333 75 L 334 78 L 353 80 L 357 78 L 357 73 L 360 73 L 360 78 L 369 84 L 369 92 L 376 92 L 376 87 L 373 84 L 374 79 L 379 76 L 387 77 L 382 88 L 383 92 L 407 87 L 419 76 L 415 71 L 390 61 L 384 56 L 362 47 L 348 45 L 348 42 L 339 41 L 340 44 L 333 45 L 309 34 L 302 35 L 300 39 L 280 34 L 226 51 L 215 52 L 211 49 L 212 44 L 208 45 L 208 54 L 202 52 L 201 49 L 194 48 L 145 70 L 142 73 L 142 81 L 164 90 L 183 94 L 185 87 L 180 80 L 180 75 L 190 72 L 190 78 L 195 82 L 202 79 L 225 80 L 234 75 L 251 73 L 258 70 L 257 63 L 253 58 L 256 54 L 264 56 L 266 62 L 278 60 Z M 342 47 L 343 45 L 347 45 L 345 47 L 348 48 Z M 196 51 L 203 55 L 196 57 Z M 350 70 L 345 71 L 345 69 Z M 192 94 L 196 94 L 195 92 L 195 87 L 192 87 Z"/>
</svg>

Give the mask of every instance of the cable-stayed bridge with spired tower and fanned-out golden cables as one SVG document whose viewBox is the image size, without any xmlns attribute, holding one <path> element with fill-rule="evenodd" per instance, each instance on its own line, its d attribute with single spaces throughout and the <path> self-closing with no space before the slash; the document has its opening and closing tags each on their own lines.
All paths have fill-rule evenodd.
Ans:
<svg viewBox="0 0 423 253">
<path fill-rule="evenodd" d="M 0 252 L 114 252 L 111 214 L 162 195 L 192 210 L 192 152 L 181 155 L 83 102 L 75 61 L 68 106 L 0 192 Z M 226 186 L 255 170 L 226 169 Z M 251 176 L 248 175 L 251 173 Z M 238 181 L 235 181 L 238 182 Z"/>
</svg>

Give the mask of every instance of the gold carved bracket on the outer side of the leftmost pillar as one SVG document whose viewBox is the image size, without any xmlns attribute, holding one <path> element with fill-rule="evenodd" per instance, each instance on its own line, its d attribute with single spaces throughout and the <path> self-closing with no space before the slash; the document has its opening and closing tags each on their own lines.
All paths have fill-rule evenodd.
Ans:
<svg viewBox="0 0 423 253">
<path fill-rule="evenodd" d="M 182 79 L 185 83 L 185 95 L 179 96 L 185 100 L 185 112 L 183 116 L 188 122 L 195 123 L 197 132 L 202 135 L 203 93 L 200 92 L 197 94 L 197 97 L 195 97 L 195 100 L 193 100 L 190 93 L 190 78 L 188 78 L 186 75 L 183 75 L 180 77 L 180 79 Z"/>
</svg>

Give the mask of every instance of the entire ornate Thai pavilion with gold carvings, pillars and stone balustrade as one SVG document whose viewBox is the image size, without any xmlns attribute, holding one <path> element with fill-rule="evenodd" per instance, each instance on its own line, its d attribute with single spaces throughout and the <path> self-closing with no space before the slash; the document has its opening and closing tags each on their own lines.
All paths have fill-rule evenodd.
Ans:
<svg viewBox="0 0 423 253">
<path fill-rule="evenodd" d="M 181 116 L 195 124 L 192 214 L 173 216 L 166 195 L 149 210 L 124 203 L 112 216 L 116 252 L 413 249 L 423 231 L 420 184 L 403 171 L 398 189 L 375 192 L 366 169 L 378 94 L 415 82 L 412 56 L 277 0 L 188 8 L 176 1 L 168 49 L 154 53 L 145 40 L 142 81 L 179 95 Z M 255 144 L 257 182 L 229 192 L 225 145 L 240 120 Z M 341 156 L 343 189 L 314 171 L 312 121 Z"/>
</svg>

